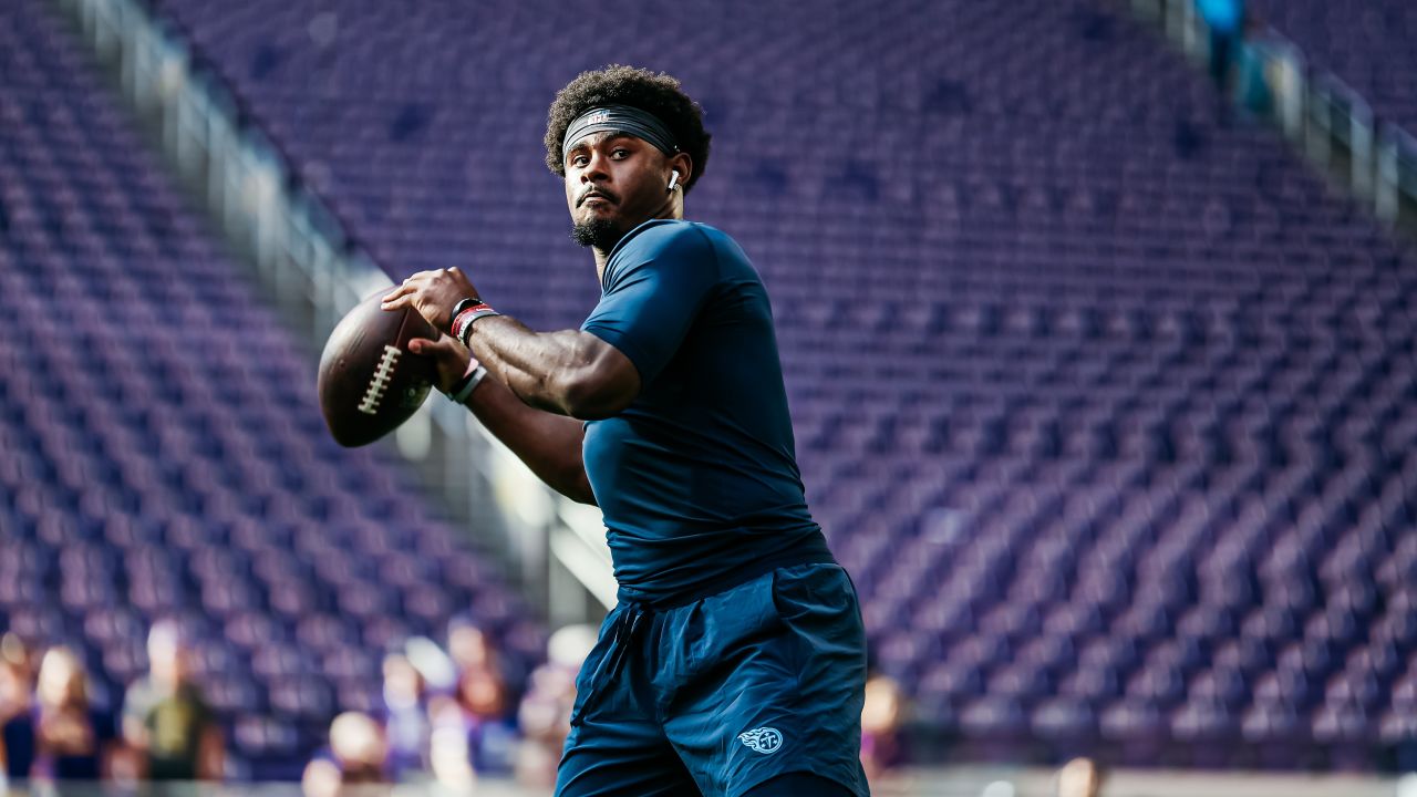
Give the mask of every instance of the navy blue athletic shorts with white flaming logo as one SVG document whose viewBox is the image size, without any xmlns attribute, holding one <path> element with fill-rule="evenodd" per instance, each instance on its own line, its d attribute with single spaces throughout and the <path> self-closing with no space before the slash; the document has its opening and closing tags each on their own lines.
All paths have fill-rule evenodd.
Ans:
<svg viewBox="0 0 1417 797">
<path fill-rule="evenodd" d="M 837 564 L 673 608 L 621 601 L 577 678 L 560 797 L 738 797 L 812 771 L 867 796 L 866 635 Z"/>
</svg>

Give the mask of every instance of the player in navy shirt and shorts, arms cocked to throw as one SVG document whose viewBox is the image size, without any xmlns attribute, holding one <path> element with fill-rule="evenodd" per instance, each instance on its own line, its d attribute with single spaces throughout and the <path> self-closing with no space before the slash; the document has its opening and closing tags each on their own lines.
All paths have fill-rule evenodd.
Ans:
<svg viewBox="0 0 1417 797">
<path fill-rule="evenodd" d="M 864 796 L 860 608 L 808 512 L 768 296 L 733 238 L 684 220 L 708 139 L 676 79 L 581 74 L 546 146 L 595 255 L 585 323 L 533 332 L 458 268 L 384 306 L 445 332 L 412 349 L 444 390 L 604 512 L 619 600 L 557 794 Z"/>
</svg>

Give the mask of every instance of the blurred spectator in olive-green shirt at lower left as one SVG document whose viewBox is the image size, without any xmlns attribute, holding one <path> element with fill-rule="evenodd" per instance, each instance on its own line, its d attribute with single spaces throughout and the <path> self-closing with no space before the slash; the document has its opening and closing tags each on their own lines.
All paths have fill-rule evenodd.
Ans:
<svg viewBox="0 0 1417 797">
<path fill-rule="evenodd" d="M 221 726 L 191 681 L 191 651 L 170 620 L 147 634 L 149 672 L 128 689 L 123 737 L 149 780 L 217 780 L 225 766 Z"/>
</svg>

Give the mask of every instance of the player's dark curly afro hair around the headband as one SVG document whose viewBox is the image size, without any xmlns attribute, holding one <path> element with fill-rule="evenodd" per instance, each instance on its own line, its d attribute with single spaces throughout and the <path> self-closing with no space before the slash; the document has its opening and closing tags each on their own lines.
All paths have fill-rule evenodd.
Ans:
<svg viewBox="0 0 1417 797">
<path fill-rule="evenodd" d="M 592 72 L 581 72 L 555 95 L 546 119 L 546 165 L 565 177 L 561 162 L 561 142 L 565 129 L 581 113 L 601 105 L 629 105 L 648 111 L 669 128 L 679 149 L 693 160 L 693 174 L 683 183 L 684 193 L 699 182 L 708 165 L 708 139 L 704 130 L 703 108 L 679 88 L 679 81 L 660 72 L 635 67 L 609 65 Z"/>
</svg>

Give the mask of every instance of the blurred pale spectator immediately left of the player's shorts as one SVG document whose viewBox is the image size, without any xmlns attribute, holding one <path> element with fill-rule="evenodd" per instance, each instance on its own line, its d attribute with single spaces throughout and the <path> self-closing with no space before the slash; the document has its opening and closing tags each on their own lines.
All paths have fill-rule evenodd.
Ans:
<svg viewBox="0 0 1417 797">
<path fill-rule="evenodd" d="M 527 786 L 553 786 L 561 749 L 571 733 L 575 705 L 575 675 L 595 647 L 595 628 L 567 625 L 547 640 L 547 662 L 531 672 L 517 719 L 521 745 L 517 749 L 517 780 Z"/>
</svg>

